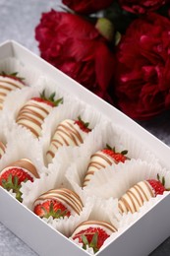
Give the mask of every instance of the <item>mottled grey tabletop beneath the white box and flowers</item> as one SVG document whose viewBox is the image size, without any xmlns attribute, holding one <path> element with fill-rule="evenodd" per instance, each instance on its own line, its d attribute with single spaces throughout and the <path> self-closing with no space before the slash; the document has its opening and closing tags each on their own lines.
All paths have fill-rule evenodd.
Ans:
<svg viewBox="0 0 170 256">
<path fill-rule="evenodd" d="M 51 8 L 59 9 L 59 4 L 60 0 L 0 0 L 0 43 L 14 39 L 39 54 L 37 42 L 34 39 L 34 28 L 38 24 L 42 12 L 47 12 Z M 170 113 L 165 113 L 151 121 L 141 122 L 141 124 L 170 146 L 169 116 Z M 37 254 L 8 228 L 0 224 L 0 256 L 24 255 L 35 256 Z M 150 256 L 159 255 L 170 255 L 170 238 L 150 254 Z M 52 256 L 50 252 L 49 256 Z"/>
</svg>

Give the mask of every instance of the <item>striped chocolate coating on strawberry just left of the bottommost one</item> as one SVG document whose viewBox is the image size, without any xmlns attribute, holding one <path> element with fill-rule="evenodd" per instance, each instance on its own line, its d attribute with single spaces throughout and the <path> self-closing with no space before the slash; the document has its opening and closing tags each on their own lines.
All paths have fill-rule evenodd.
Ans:
<svg viewBox="0 0 170 256">
<path fill-rule="evenodd" d="M 61 202 L 73 216 L 76 214 L 80 215 L 83 211 L 84 206 L 81 198 L 75 192 L 66 188 L 47 191 L 34 201 L 34 206 L 50 199 Z"/>
</svg>

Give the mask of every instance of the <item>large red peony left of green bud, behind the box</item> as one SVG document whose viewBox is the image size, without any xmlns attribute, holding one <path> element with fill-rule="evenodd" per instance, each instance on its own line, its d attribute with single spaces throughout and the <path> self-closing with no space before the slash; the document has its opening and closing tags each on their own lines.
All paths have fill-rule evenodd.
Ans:
<svg viewBox="0 0 170 256">
<path fill-rule="evenodd" d="M 77 15 L 52 10 L 35 29 L 41 57 L 109 100 L 107 88 L 114 75 L 114 56 L 106 39 Z"/>
</svg>

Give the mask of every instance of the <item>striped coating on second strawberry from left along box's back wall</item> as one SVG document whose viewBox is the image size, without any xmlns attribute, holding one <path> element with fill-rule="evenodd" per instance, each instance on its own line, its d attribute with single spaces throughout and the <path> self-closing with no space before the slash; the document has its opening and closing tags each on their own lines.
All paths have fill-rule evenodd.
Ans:
<svg viewBox="0 0 170 256">
<path fill-rule="evenodd" d="M 19 111 L 16 122 L 28 128 L 34 137 L 39 137 L 41 125 L 51 109 L 52 106 L 49 104 L 29 99 Z"/>
</svg>

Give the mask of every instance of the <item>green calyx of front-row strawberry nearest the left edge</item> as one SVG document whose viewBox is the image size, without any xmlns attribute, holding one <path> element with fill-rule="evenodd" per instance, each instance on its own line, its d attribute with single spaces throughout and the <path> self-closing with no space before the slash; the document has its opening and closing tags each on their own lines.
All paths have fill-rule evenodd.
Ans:
<svg viewBox="0 0 170 256">
<path fill-rule="evenodd" d="M 27 181 L 28 179 L 26 178 L 23 182 Z M 10 174 L 7 180 L 2 179 L 2 187 L 7 191 L 12 190 L 13 193 L 16 193 L 16 199 L 20 202 L 23 202 L 22 192 L 20 191 L 22 185 L 19 184 L 19 178 L 17 176 L 12 176 L 12 174 Z"/>
</svg>

